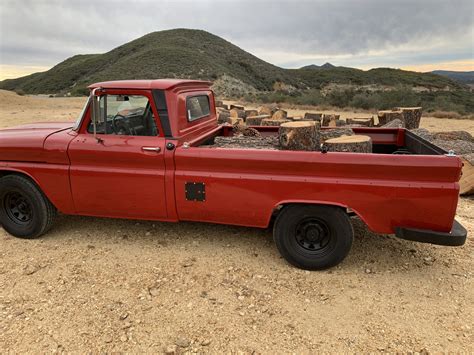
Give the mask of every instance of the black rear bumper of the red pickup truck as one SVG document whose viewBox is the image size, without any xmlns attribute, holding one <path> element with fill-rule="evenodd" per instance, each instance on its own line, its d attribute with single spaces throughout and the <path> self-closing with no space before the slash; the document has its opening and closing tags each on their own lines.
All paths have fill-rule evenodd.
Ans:
<svg viewBox="0 0 474 355">
<path fill-rule="evenodd" d="M 397 227 L 395 228 L 395 235 L 398 238 L 415 242 L 459 246 L 466 242 L 467 230 L 461 223 L 454 220 L 453 228 L 449 233 Z"/>
</svg>

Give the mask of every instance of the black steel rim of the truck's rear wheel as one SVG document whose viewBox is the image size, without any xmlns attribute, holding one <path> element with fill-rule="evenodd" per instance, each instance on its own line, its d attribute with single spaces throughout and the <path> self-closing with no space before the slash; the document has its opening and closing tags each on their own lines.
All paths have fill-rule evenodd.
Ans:
<svg viewBox="0 0 474 355">
<path fill-rule="evenodd" d="M 322 253 L 330 245 L 332 235 L 328 225 L 316 217 L 308 217 L 296 225 L 296 243 L 305 252 Z"/>
</svg>

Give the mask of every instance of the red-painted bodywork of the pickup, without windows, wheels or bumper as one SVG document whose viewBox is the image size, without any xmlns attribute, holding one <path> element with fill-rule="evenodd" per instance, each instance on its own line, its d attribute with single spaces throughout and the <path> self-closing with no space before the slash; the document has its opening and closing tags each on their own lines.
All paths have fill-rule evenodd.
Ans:
<svg viewBox="0 0 474 355">
<path fill-rule="evenodd" d="M 266 227 L 282 204 L 350 208 L 378 233 L 411 227 L 449 231 L 458 201 L 459 158 L 427 155 L 291 152 L 199 147 L 215 134 L 210 83 L 188 80 L 105 82 L 107 94 L 145 95 L 158 137 L 98 135 L 72 124 L 0 131 L 0 172 L 30 176 L 63 213 L 164 221 L 192 220 Z M 165 90 L 173 138 L 165 138 L 152 90 Z M 210 95 L 212 112 L 188 122 L 188 95 Z M 259 128 L 275 134 L 277 127 Z M 375 144 L 403 146 L 399 128 L 356 128 Z M 183 146 L 187 142 L 189 148 Z M 166 149 L 167 143 L 176 148 Z M 161 148 L 144 152 L 142 147 Z M 186 182 L 203 182 L 206 201 L 187 201 Z"/>
</svg>

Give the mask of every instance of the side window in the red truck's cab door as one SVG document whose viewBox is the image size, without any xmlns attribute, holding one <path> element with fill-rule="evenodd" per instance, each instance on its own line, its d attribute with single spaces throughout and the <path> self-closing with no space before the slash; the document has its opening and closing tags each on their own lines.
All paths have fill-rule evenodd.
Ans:
<svg viewBox="0 0 474 355">
<path fill-rule="evenodd" d="M 103 95 L 100 97 L 99 134 L 157 136 L 155 117 L 148 98 L 141 95 Z M 94 132 L 90 122 L 87 129 Z"/>
</svg>

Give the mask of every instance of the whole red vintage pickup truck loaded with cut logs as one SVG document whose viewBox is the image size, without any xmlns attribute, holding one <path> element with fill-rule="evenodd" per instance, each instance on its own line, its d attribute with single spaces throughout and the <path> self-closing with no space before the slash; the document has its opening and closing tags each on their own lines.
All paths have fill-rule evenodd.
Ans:
<svg viewBox="0 0 474 355">
<path fill-rule="evenodd" d="M 217 123 L 210 84 L 97 83 L 75 124 L 0 130 L 3 228 L 35 238 L 57 211 L 273 226 L 281 254 L 304 269 L 344 259 L 353 215 L 377 233 L 464 244 L 453 154 L 399 128 L 354 128 L 372 138 L 372 154 L 213 148 L 233 131 Z"/>
</svg>

